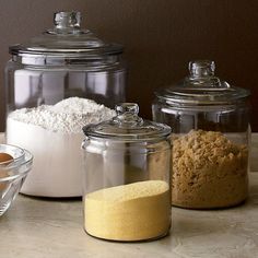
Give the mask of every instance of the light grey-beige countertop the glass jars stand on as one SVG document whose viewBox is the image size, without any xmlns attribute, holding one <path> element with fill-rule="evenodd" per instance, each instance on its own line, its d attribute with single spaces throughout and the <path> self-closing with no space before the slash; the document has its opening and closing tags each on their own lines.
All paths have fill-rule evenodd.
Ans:
<svg viewBox="0 0 258 258">
<path fill-rule="evenodd" d="M 243 206 L 213 211 L 172 208 L 171 235 L 146 243 L 114 243 L 83 231 L 82 202 L 20 195 L 0 218 L 0 258 L 258 257 L 258 173 L 250 173 Z"/>
</svg>

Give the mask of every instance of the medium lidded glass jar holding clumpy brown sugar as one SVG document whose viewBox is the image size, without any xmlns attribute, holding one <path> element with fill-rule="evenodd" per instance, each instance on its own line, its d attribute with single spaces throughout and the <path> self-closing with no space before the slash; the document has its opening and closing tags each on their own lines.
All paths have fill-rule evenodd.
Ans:
<svg viewBox="0 0 258 258">
<path fill-rule="evenodd" d="M 214 75 L 214 62 L 189 63 L 189 77 L 155 92 L 153 119 L 173 130 L 172 203 L 226 208 L 248 194 L 249 91 Z"/>
</svg>

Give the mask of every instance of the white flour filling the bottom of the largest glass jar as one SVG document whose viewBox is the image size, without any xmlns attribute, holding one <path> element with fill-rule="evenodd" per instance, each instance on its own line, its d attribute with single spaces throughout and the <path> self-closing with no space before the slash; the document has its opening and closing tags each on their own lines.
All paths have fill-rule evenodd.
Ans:
<svg viewBox="0 0 258 258">
<path fill-rule="evenodd" d="M 115 116 L 94 101 L 70 97 L 56 105 L 21 108 L 7 119 L 7 142 L 34 155 L 21 192 L 32 196 L 82 195 L 82 127 Z"/>
</svg>

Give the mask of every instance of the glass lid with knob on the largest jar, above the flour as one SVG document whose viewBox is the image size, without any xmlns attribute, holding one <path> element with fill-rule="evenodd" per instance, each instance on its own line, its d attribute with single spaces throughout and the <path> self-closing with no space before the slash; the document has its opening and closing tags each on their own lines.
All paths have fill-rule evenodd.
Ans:
<svg viewBox="0 0 258 258">
<path fill-rule="evenodd" d="M 80 12 L 57 12 L 54 23 L 55 27 L 43 35 L 11 46 L 10 54 L 23 57 L 22 62 L 26 64 L 46 64 L 69 58 L 99 59 L 122 52 L 122 46 L 104 43 L 89 30 L 82 30 Z"/>
</svg>

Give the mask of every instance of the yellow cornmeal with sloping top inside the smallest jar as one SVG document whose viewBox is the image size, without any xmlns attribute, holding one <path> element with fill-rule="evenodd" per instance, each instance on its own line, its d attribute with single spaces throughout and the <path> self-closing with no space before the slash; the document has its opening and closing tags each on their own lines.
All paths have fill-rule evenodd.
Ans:
<svg viewBox="0 0 258 258">
<path fill-rule="evenodd" d="M 163 180 L 105 188 L 84 197 L 84 228 L 92 236 L 143 241 L 165 235 L 169 226 L 171 192 Z"/>
</svg>

